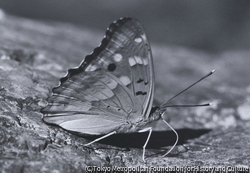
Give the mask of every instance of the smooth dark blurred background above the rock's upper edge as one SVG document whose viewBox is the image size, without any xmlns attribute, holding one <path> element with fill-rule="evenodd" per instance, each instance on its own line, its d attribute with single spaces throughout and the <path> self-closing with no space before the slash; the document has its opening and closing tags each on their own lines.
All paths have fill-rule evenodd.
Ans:
<svg viewBox="0 0 250 173">
<path fill-rule="evenodd" d="M 101 32 L 112 21 L 130 16 L 144 25 L 151 42 L 212 53 L 250 50 L 249 0 L 2 0 L 0 8 Z"/>
</svg>

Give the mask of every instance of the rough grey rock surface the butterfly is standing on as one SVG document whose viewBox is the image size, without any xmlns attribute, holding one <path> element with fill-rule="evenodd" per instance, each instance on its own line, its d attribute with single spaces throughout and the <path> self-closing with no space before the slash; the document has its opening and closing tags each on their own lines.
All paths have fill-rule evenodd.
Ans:
<svg viewBox="0 0 250 173">
<path fill-rule="evenodd" d="M 4 14 L 0 33 L 1 172 L 83 172 L 86 166 L 250 166 L 250 51 L 209 54 L 152 44 L 156 105 L 210 70 L 217 71 L 173 101 L 213 105 L 169 108 L 166 119 L 179 133 L 178 146 L 161 157 L 175 135 L 163 122 L 155 122 L 144 163 L 141 148 L 147 134 L 115 135 L 84 147 L 94 137 L 79 137 L 41 120 L 40 109 L 52 87 L 99 45 L 104 32 Z"/>
</svg>

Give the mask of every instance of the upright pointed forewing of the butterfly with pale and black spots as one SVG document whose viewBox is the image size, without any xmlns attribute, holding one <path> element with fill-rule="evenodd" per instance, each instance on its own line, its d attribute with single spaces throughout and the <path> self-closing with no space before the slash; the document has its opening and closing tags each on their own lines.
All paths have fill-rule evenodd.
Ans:
<svg viewBox="0 0 250 173">
<path fill-rule="evenodd" d="M 86 70 L 101 66 L 118 77 L 138 98 L 142 115 L 148 118 L 154 94 L 154 73 L 150 45 L 141 24 L 132 18 L 112 23 L 93 54 L 97 57 L 91 58 Z"/>
</svg>

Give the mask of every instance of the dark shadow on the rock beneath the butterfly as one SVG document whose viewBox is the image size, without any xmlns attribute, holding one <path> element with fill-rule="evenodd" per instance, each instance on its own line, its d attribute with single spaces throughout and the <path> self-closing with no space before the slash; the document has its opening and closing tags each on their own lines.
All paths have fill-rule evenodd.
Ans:
<svg viewBox="0 0 250 173">
<path fill-rule="evenodd" d="M 210 129 L 179 129 L 176 130 L 179 134 L 179 141 L 177 145 L 183 145 L 189 139 L 198 138 L 208 132 Z M 90 141 L 95 140 L 101 136 L 85 136 L 84 138 Z M 127 133 L 115 134 L 109 136 L 98 143 L 112 145 L 120 148 L 142 148 L 148 137 L 148 133 Z M 159 149 L 166 146 L 172 146 L 176 141 L 176 135 L 172 131 L 153 131 L 147 149 Z"/>
</svg>

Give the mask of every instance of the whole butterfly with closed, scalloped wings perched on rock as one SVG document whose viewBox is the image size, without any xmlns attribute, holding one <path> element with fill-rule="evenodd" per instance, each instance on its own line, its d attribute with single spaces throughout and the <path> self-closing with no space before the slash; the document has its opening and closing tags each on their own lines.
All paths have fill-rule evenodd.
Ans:
<svg viewBox="0 0 250 173">
<path fill-rule="evenodd" d="M 143 146 L 145 161 L 152 133 L 145 125 L 159 119 L 167 124 L 163 119 L 166 103 L 151 109 L 153 98 L 149 41 L 138 20 L 125 17 L 113 22 L 101 45 L 60 79 L 47 99 L 48 105 L 41 109 L 42 119 L 71 132 L 104 135 L 86 145 L 116 133 L 148 131 Z M 178 135 L 174 146 L 177 141 Z"/>
</svg>

